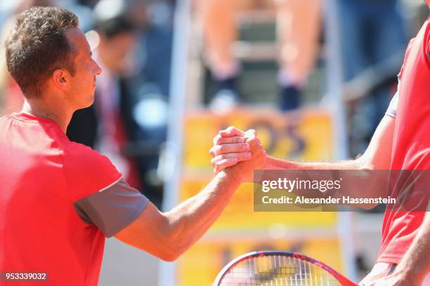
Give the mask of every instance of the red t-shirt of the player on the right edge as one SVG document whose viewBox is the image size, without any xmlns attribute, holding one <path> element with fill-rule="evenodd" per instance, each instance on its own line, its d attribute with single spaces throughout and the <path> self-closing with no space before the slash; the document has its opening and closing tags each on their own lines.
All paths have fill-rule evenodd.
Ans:
<svg viewBox="0 0 430 286">
<path fill-rule="evenodd" d="M 400 71 L 391 170 L 430 170 L 430 17 L 410 41 Z M 379 262 L 398 264 L 417 236 L 426 212 L 384 216 Z"/>
</svg>

